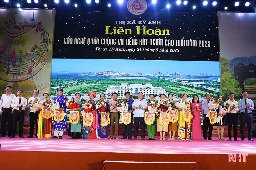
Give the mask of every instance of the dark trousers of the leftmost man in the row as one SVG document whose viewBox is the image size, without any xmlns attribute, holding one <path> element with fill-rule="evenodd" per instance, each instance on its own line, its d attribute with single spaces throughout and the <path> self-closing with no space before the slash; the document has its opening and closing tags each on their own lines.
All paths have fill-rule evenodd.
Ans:
<svg viewBox="0 0 256 170">
<path fill-rule="evenodd" d="M 1 135 L 5 135 L 6 120 L 8 120 L 8 136 L 10 136 L 12 134 L 12 108 L 2 108 L 2 119 L 0 127 Z"/>
</svg>

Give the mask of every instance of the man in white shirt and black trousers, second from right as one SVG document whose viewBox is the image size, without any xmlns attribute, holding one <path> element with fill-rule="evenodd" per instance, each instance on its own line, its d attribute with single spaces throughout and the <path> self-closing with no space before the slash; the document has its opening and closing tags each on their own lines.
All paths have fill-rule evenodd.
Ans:
<svg viewBox="0 0 256 170">
<path fill-rule="evenodd" d="M 238 121 L 237 112 L 239 111 L 239 108 L 238 108 L 238 102 L 234 100 L 234 96 L 235 96 L 234 93 L 230 92 L 229 100 L 226 101 L 226 103 L 229 103 L 229 105 L 232 108 L 230 113 L 227 114 L 228 135 L 229 135 L 228 140 L 231 140 L 231 138 L 232 138 L 231 131 L 232 131 L 232 125 L 233 125 L 234 140 L 238 141 L 238 139 L 237 139 L 237 121 Z"/>
</svg>

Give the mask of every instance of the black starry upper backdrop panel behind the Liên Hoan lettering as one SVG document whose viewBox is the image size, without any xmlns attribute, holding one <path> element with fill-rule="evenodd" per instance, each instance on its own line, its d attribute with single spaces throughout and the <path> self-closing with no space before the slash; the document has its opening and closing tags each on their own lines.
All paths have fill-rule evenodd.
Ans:
<svg viewBox="0 0 256 170">
<path fill-rule="evenodd" d="M 153 21 L 158 21 L 158 24 L 152 24 Z M 106 26 L 109 26 L 108 33 L 113 32 L 114 27 L 122 27 L 131 29 L 132 34 L 106 34 Z M 138 35 L 137 26 L 140 29 L 143 26 L 152 30 L 168 29 L 170 35 L 143 35 L 143 31 Z M 75 38 L 85 41 L 78 44 Z M 99 42 L 88 44 L 87 40 L 93 38 Z M 101 44 L 101 39 L 108 38 L 116 39 L 116 44 Z M 71 39 L 72 42 L 68 41 Z M 118 39 L 124 39 L 124 44 L 118 44 Z M 137 44 L 126 44 L 125 39 L 137 40 Z M 141 39 L 147 39 L 147 43 L 140 44 Z M 155 45 L 150 39 L 163 44 Z M 167 40 L 172 40 L 173 46 L 165 44 Z M 184 40 L 184 44 L 176 44 L 180 40 Z M 196 45 L 187 44 L 187 40 L 196 40 Z M 53 58 L 219 61 L 218 43 L 216 13 L 148 12 L 133 15 L 125 12 L 56 11 Z M 129 49 L 135 51 L 129 52 Z"/>
</svg>

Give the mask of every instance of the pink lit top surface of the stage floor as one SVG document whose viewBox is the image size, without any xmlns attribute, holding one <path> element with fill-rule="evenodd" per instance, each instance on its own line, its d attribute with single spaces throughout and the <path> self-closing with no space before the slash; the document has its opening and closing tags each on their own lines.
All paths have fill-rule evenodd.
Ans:
<svg viewBox="0 0 256 170">
<path fill-rule="evenodd" d="M 256 154 L 255 141 L 213 141 L 180 139 L 159 140 L 123 140 L 119 139 L 70 139 L 63 135 L 63 139 L 37 139 L 37 138 L 0 138 L 1 151 L 52 151 L 52 152 L 114 152 L 114 153 L 155 153 L 155 154 Z"/>
</svg>

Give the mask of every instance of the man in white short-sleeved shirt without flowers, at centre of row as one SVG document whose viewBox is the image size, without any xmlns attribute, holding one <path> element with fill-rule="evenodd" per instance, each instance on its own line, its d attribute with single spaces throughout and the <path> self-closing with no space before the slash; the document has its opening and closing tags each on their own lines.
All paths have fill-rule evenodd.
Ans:
<svg viewBox="0 0 256 170">
<path fill-rule="evenodd" d="M 145 99 L 143 99 L 143 93 L 138 93 L 137 100 L 134 100 L 132 103 L 132 109 L 134 109 L 134 139 L 138 139 L 138 127 L 139 123 L 141 126 L 141 139 L 145 140 L 145 110 L 148 109 L 148 103 Z"/>
</svg>

